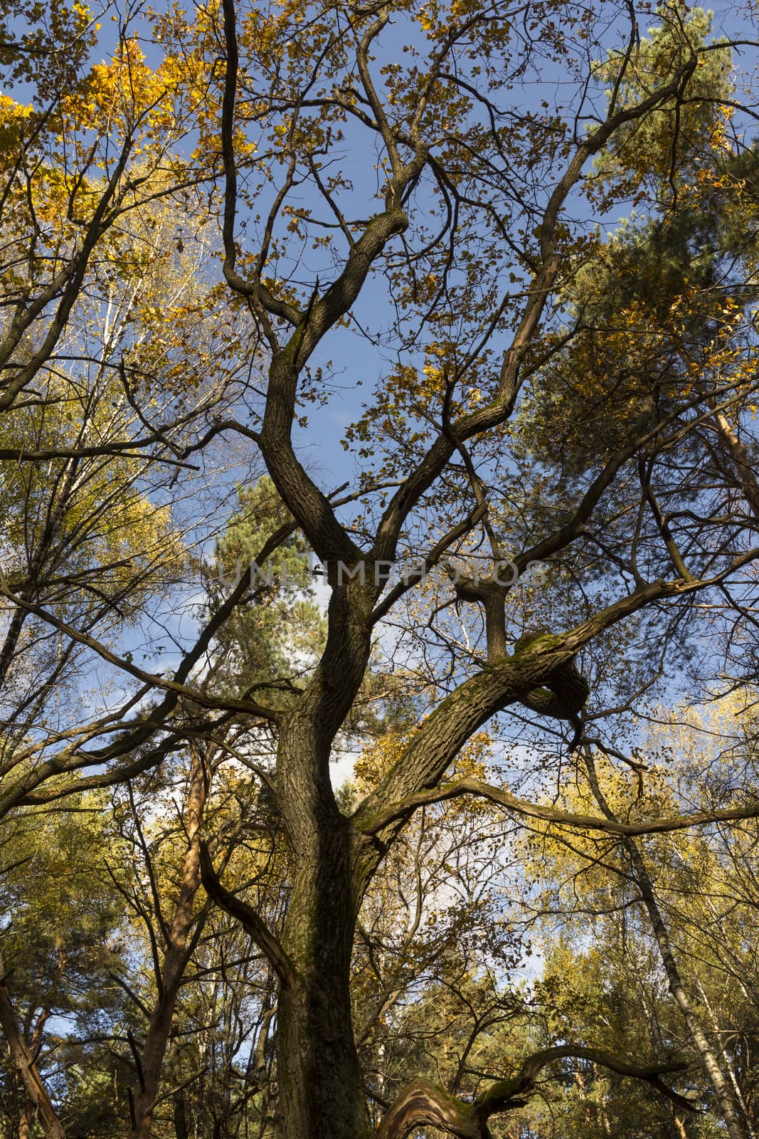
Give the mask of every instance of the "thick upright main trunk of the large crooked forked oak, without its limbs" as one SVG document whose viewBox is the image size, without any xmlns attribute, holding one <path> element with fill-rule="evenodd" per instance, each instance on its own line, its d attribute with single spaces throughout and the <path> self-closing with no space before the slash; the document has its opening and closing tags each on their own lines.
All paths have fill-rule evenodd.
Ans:
<svg viewBox="0 0 759 1139">
<path fill-rule="evenodd" d="M 371 601 L 360 583 L 333 589 L 324 655 L 280 726 L 277 786 L 294 861 L 282 945 L 295 976 L 281 985 L 277 1027 L 284 1139 L 364 1139 L 371 1131 L 349 984 L 366 880 L 329 765 L 369 661 Z"/>
</svg>

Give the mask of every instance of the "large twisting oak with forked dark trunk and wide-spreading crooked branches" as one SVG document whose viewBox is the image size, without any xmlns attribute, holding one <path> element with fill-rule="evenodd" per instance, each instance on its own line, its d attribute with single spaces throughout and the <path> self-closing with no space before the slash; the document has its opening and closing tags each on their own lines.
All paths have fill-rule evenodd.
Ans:
<svg viewBox="0 0 759 1139">
<path fill-rule="evenodd" d="M 662 671 L 687 661 L 711 631 L 715 605 L 729 629 L 750 612 L 756 587 L 745 460 L 758 386 L 751 227 L 739 256 L 732 208 L 707 194 L 704 229 L 717 235 L 708 263 L 695 278 L 662 271 L 637 293 L 641 241 L 605 243 L 593 228 L 632 200 L 641 227 L 658 235 L 659 226 L 675 248 L 692 248 L 679 207 L 687 186 L 719 181 L 734 194 L 746 189 L 752 202 L 754 151 L 743 126 L 753 114 L 750 93 L 732 77 L 731 41 L 710 41 L 703 14 L 676 2 L 603 11 L 602 21 L 593 7 L 559 0 L 528 8 L 460 0 L 314 8 L 294 0 L 271 11 L 223 0 L 191 18 L 179 9 L 148 17 L 162 57 L 149 68 L 135 10 L 108 64 L 89 67 L 82 49 L 67 62 L 75 81 L 56 72 L 49 110 L 39 99 L 30 116 L 20 104 L 3 109 L 3 200 L 13 219 L 0 353 L 13 434 L 2 451 L 7 470 L 51 461 L 67 487 L 93 456 L 108 459 L 107 478 L 118 469 L 113 462 L 129 467 L 145 453 L 148 461 L 130 475 L 141 501 L 178 506 L 189 477 L 183 465 L 203 461 L 220 441 L 246 444 L 287 513 L 261 535 L 253 560 L 265 565 L 298 532 L 327 568 L 323 648 L 299 669 L 291 655 L 272 654 L 283 674 L 261 681 L 253 669 L 239 691 L 213 683 L 213 656 L 225 638 L 231 644 L 230 629 L 255 649 L 255 574 L 215 595 L 190 633 L 176 633 L 168 669 L 151 659 L 162 623 L 151 598 L 159 587 L 179 588 L 171 574 L 149 574 L 146 596 L 126 590 L 152 642 L 142 663 L 118 641 L 121 629 L 110 639 L 110 593 L 97 580 L 102 559 L 90 588 L 105 595 L 105 614 L 82 611 L 73 570 L 56 563 L 41 577 L 39 551 L 47 556 L 55 544 L 55 526 L 42 527 L 43 547 L 32 543 L 20 579 L 2 583 L 9 628 L 15 614 L 16 626 L 31 614 L 65 640 L 80 667 L 105 662 L 121 686 L 115 710 L 92 718 L 80 707 L 55 730 L 58 673 L 31 686 L 33 697 L 19 698 L 9 716 L 23 729 L 9 752 L 3 811 L 126 785 L 198 741 L 223 747 L 229 730 L 271 741 L 274 777 L 259 763 L 253 773 L 287 839 L 281 925 L 272 929 L 236 898 L 213 835 L 204 853 L 193 830 L 188 852 L 193 895 L 201 871 L 209 899 L 241 923 L 278 978 L 286 1139 L 355 1139 L 370 1130 L 352 1023 L 356 923 L 372 879 L 420 809 L 475 795 L 627 837 L 759 813 L 739 797 L 734 806 L 645 818 L 629 830 L 602 809 L 588 817 L 518 797 L 505 757 L 503 785 L 446 781 L 494 718 L 504 756 L 525 721 L 554 754 L 581 738 L 580 714 L 603 731 L 604 712 L 632 706 Z M 92 22 L 81 6 L 74 13 L 66 34 L 85 43 L 76 21 L 85 30 Z M 34 27 L 38 7 L 30 16 Z M 10 42 L 9 30 L 3 50 L 11 63 L 28 57 L 31 71 L 19 74 L 47 83 L 49 57 L 38 64 L 39 38 L 30 34 Z M 736 30 L 734 46 L 749 39 Z M 561 105 L 556 75 L 567 91 Z M 376 179 L 352 174 L 360 157 Z M 158 296 L 174 279 L 174 253 L 183 255 L 184 219 L 197 202 L 204 233 L 218 214 L 225 290 L 205 287 L 204 274 L 216 271 L 209 248 L 195 335 L 182 325 L 181 304 L 166 328 L 156 297 L 146 297 L 138 343 L 116 358 L 108 344 L 92 350 L 93 375 L 108 369 L 134 419 L 110 434 L 92 431 L 94 444 L 86 433 L 65 445 L 30 443 L 16 413 L 41 402 L 52 421 L 60 357 L 71 354 L 61 338 L 71 333 L 79 344 L 85 327 L 76 306 L 92 296 L 99 311 L 112 287 L 125 295 L 108 262 L 140 248 L 126 219 L 148 226 L 154 203 L 164 200 L 183 220 L 172 248 L 160 238 L 168 256 L 159 259 L 166 276 Z M 593 296 L 587 282 L 593 273 L 609 279 L 622 246 L 629 264 L 619 292 Z M 317 416 L 335 395 L 327 354 L 347 343 L 346 329 L 378 346 L 377 390 L 346 433 L 357 478 L 328 493 L 296 431 L 306 428 L 305 404 Z M 389 368 L 379 363 L 388 354 Z M 76 357 L 75 386 L 90 351 Z M 369 350 L 366 359 L 371 371 Z M 166 466 L 171 475 L 158 477 Z M 123 477 L 118 487 L 121 503 Z M 58 525 L 55 507 L 47 516 Z M 124 528 L 142 546 L 132 521 Z M 176 560 L 170 554 L 162 564 L 175 568 Z M 394 563 L 402 573 L 388 583 Z M 527 573 L 536 563 L 545 566 L 541 581 Z M 416 722 L 389 770 L 343 810 L 330 759 L 365 694 L 378 630 L 394 620 Z M 17 658 L 19 648 L 14 633 L 8 652 Z M 713 658 L 701 663 L 706 670 Z M 158 952 L 157 977 L 171 951 Z M 388 1104 L 379 1134 L 424 1124 L 486 1136 L 488 1121 L 522 1105 L 544 1071 L 577 1056 L 676 1098 L 661 1079 L 674 1071 L 668 1057 L 619 1057 L 570 1041 L 537 1049 L 511 1076 L 494 1074 L 473 1101 L 412 1080 Z M 147 1081 L 143 1092 L 149 1121 L 155 1092 Z M 140 1134 L 147 1126 L 135 1122 Z"/>
</svg>

